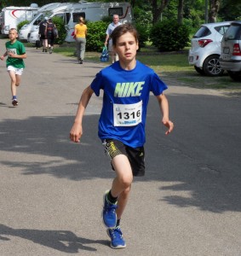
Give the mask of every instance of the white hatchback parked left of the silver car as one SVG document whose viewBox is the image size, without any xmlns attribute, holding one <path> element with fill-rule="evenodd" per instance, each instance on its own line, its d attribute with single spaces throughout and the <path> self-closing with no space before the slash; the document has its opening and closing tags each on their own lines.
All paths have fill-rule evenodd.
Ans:
<svg viewBox="0 0 241 256">
<path fill-rule="evenodd" d="M 203 24 L 191 40 L 188 61 L 200 74 L 219 76 L 221 69 L 219 57 L 221 55 L 221 39 L 230 21 Z"/>
</svg>

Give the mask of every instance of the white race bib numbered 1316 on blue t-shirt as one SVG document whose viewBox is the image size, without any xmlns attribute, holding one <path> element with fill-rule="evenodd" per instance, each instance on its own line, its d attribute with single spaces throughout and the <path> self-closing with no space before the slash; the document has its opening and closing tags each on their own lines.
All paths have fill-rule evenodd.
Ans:
<svg viewBox="0 0 241 256">
<path fill-rule="evenodd" d="M 134 126 L 141 123 L 142 101 L 135 104 L 113 104 L 114 126 Z"/>
</svg>

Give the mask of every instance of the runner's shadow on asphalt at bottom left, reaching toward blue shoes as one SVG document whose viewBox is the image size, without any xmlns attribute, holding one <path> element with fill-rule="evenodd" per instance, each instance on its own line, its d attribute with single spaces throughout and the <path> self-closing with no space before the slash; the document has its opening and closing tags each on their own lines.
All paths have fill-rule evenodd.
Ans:
<svg viewBox="0 0 241 256">
<path fill-rule="evenodd" d="M 89 244 L 102 244 L 109 246 L 109 241 L 105 240 L 89 240 L 78 237 L 71 231 L 67 230 L 27 230 L 12 229 L 6 225 L 0 224 L 0 241 L 9 241 L 8 236 L 17 236 L 45 247 L 51 247 L 64 253 L 78 253 L 79 250 L 95 252 L 94 247 Z"/>
</svg>

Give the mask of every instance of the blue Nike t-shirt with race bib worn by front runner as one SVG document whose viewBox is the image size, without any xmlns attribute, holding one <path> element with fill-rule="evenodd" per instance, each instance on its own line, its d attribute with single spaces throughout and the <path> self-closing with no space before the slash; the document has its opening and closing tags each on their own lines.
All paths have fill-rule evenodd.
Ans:
<svg viewBox="0 0 241 256">
<path fill-rule="evenodd" d="M 132 148 L 143 146 L 150 91 L 158 96 L 167 89 L 152 68 L 136 61 L 135 68 L 127 71 L 116 61 L 97 73 L 90 86 L 96 96 L 104 90 L 100 139 L 117 139 Z"/>
</svg>

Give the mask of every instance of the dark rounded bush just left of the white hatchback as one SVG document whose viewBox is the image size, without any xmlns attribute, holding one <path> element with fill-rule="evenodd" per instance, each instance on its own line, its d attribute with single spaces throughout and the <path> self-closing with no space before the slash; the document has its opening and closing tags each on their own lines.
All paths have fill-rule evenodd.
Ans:
<svg viewBox="0 0 241 256">
<path fill-rule="evenodd" d="M 150 33 L 152 44 L 160 51 L 184 49 L 189 43 L 190 29 L 185 24 L 180 25 L 176 20 L 160 21 Z"/>
</svg>

